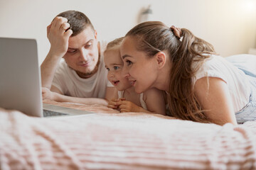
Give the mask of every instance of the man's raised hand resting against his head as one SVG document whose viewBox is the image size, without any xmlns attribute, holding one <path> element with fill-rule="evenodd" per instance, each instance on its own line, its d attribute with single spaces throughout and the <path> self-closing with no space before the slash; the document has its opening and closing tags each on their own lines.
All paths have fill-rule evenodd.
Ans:
<svg viewBox="0 0 256 170">
<path fill-rule="evenodd" d="M 47 27 L 47 38 L 50 41 L 50 55 L 63 57 L 68 51 L 68 39 L 73 31 L 69 29 L 67 18 L 57 16 Z"/>
</svg>

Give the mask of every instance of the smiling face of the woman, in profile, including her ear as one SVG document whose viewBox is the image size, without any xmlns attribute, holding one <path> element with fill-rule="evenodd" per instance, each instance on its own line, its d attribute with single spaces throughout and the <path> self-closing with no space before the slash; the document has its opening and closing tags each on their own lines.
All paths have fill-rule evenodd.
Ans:
<svg viewBox="0 0 256 170">
<path fill-rule="evenodd" d="M 135 38 L 124 38 L 120 53 L 124 61 L 122 76 L 127 77 L 135 91 L 140 94 L 154 87 L 158 69 L 156 58 L 150 58 L 145 52 L 137 50 L 136 44 Z"/>
</svg>

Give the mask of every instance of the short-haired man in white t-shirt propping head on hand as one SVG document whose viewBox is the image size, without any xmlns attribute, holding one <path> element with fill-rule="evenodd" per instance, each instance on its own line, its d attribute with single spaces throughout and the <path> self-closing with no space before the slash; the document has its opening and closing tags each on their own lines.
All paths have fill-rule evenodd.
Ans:
<svg viewBox="0 0 256 170">
<path fill-rule="evenodd" d="M 115 90 L 107 86 L 103 63 L 107 42 L 97 41 L 89 18 L 79 11 L 60 13 L 47 27 L 47 37 L 50 51 L 41 64 L 43 98 L 107 104 L 104 98 L 110 99 Z"/>
</svg>

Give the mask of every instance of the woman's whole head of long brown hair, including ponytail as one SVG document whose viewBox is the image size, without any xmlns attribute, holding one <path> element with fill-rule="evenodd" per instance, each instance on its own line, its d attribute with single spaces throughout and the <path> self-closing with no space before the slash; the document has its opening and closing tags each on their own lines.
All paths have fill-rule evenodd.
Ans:
<svg viewBox="0 0 256 170">
<path fill-rule="evenodd" d="M 196 71 L 211 54 L 213 45 L 197 38 L 191 31 L 181 28 L 183 37 L 178 40 L 172 30 L 159 21 L 148 21 L 129 30 L 126 36 L 136 38 L 137 50 L 149 57 L 167 50 L 171 60 L 169 72 L 168 105 L 172 116 L 183 120 L 208 123 L 209 120 L 193 91 L 192 79 Z M 196 67 L 192 64 L 196 62 Z"/>
</svg>

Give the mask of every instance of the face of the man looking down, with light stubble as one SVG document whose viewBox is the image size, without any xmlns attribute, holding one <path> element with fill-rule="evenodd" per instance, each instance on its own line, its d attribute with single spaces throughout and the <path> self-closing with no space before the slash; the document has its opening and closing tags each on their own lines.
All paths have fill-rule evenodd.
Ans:
<svg viewBox="0 0 256 170">
<path fill-rule="evenodd" d="M 97 44 L 97 32 L 90 27 L 68 40 L 68 52 L 63 58 L 82 78 L 91 77 L 97 72 L 99 61 Z"/>
</svg>

